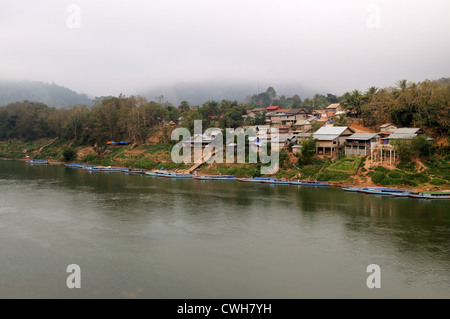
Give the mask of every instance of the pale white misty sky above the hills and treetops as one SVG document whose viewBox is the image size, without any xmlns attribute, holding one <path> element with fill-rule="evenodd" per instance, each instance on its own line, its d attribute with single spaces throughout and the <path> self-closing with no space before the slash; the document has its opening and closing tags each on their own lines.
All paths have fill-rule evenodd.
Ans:
<svg viewBox="0 0 450 319">
<path fill-rule="evenodd" d="M 92 96 L 258 81 L 340 95 L 450 76 L 449 13 L 449 0 L 1 0 L 0 78 Z"/>
</svg>

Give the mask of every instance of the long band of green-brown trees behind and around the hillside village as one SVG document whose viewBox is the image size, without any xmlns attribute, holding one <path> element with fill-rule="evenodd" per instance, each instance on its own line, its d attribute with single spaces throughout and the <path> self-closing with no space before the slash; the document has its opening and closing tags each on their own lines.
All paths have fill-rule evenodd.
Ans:
<svg viewBox="0 0 450 319">
<path fill-rule="evenodd" d="M 400 127 L 421 126 L 440 135 L 450 132 L 450 80 L 441 79 L 420 83 L 402 80 L 396 87 L 371 87 L 364 93 L 354 90 L 340 97 L 316 94 L 304 101 L 298 95 L 277 96 L 271 87 L 250 96 L 245 103 L 207 101 L 201 106 L 191 106 L 187 101 L 174 106 L 123 95 L 96 98 L 93 106 L 77 105 L 70 109 L 23 101 L 0 107 L 0 140 L 61 138 L 81 145 L 104 145 L 109 140 L 144 142 L 155 130 L 162 129 L 168 138 L 167 128 L 173 124 L 193 130 L 194 120 L 202 120 L 203 128 L 236 128 L 264 123 L 264 114 L 255 119 L 243 117 L 255 107 L 312 109 L 330 103 L 341 103 L 366 126 L 390 122 Z"/>
</svg>

